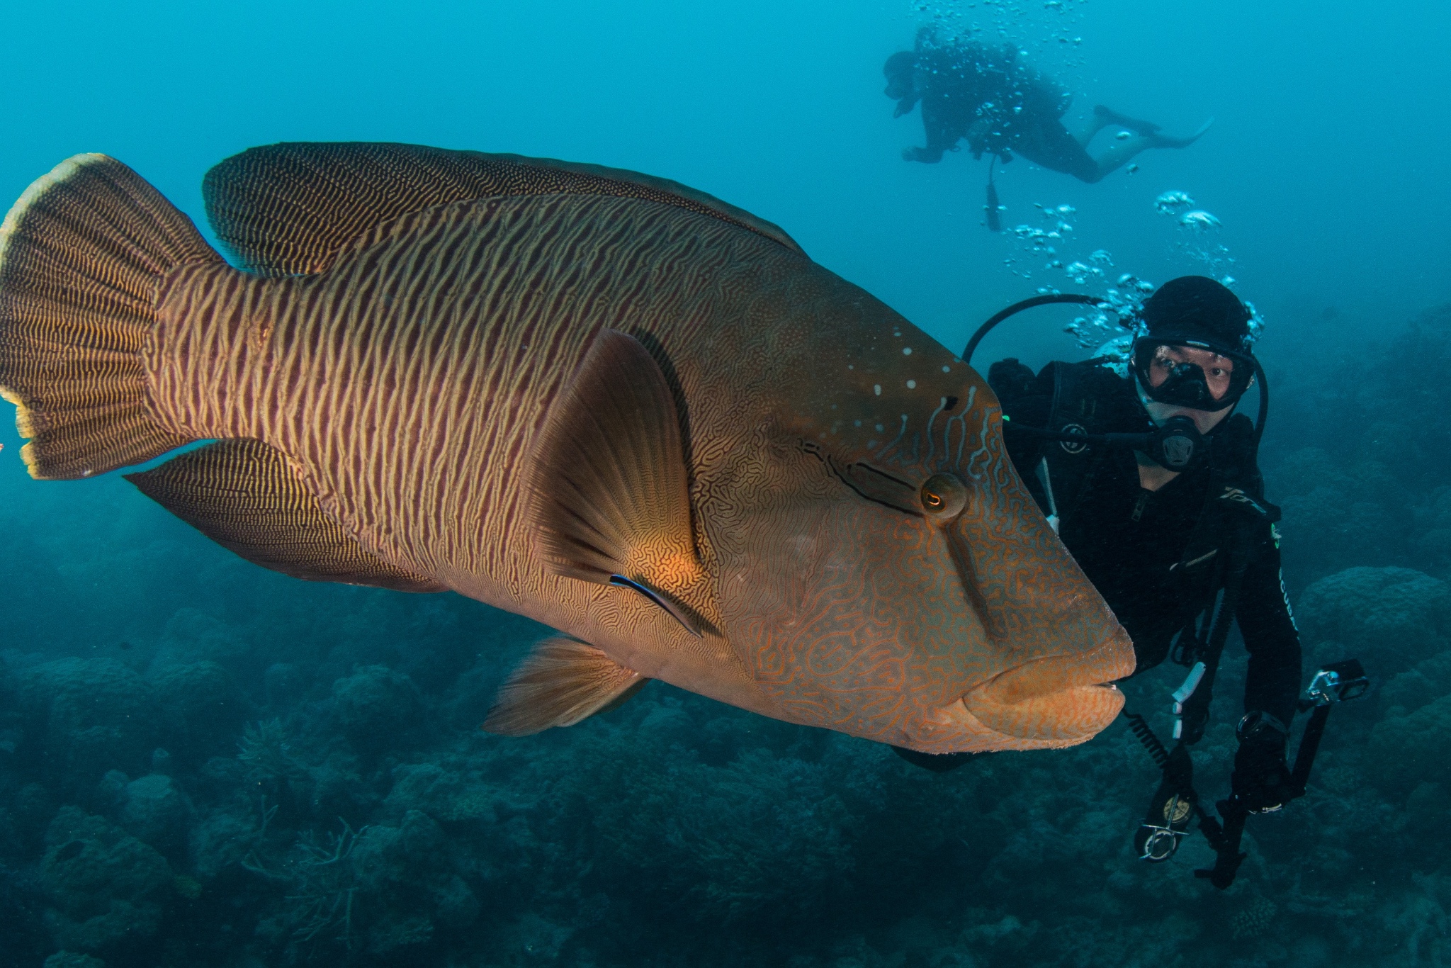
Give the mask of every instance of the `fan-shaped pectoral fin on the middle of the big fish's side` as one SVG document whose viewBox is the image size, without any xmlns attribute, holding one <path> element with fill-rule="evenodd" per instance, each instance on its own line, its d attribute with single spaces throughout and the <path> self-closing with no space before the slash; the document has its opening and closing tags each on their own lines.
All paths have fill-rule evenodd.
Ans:
<svg viewBox="0 0 1451 968">
<path fill-rule="evenodd" d="M 704 569 L 681 418 L 644 344 L 599 331 L 550 406 L 530 485 L 530 524 L 556 575 L 633 588 L 701 634 L 682 604 Z"/>
</svg>

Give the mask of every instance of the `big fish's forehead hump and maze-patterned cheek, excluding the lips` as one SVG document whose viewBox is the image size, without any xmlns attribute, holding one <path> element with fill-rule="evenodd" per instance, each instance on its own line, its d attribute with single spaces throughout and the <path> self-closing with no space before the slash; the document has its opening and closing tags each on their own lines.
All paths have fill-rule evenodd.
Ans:
<svg viewBox="0 0 1451 968">
<path fill-rule="evenodd" d="M 779 434 L 810 456 L 795 464 L 811 483 L 792 505 L 778 467 L 781 480 L 741 496 L 763 511 L 740 531 L 750 547 L 723 540 L 736 550 L 724 608 L 753 627 L 740 636 L 753 673 L 802 721 L 901 736 L 1000 672 L 1114 640 L 1117 623 L 1007 459 L 981 376 L 846 283 L 815 315 L 813 379 L 784 392 L 795 421 Z M 753 450 L 770 453 L 769 438 Z M 776 448 L 786 457 L 792 441 Z M 878 475 L 868 499 L 849 493 L 852 467 Z M 969 492 L 946 527 L 913 514 L 936 473 Z"/>
</svg>

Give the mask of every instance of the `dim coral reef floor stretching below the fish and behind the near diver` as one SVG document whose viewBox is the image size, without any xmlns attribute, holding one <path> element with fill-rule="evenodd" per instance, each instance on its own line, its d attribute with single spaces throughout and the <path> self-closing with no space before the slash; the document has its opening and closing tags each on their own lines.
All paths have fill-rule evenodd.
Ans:
<svg viewBox="0 0 1451 968">
<path fill-rule="evenodd" d="M 1307 660 L 1357 656 L 1377 685 L 1335 711 L 1309 795 L 1251 819 L 1223 894 L 1191 874 L 1197 836 L 1133 856 L 1156 774 L 1122 723 L 929 774 L 651 684 L 493 737 L 477 724 L 543 628 L 261 572 L 120 482 L 71 492 L 80 511 L 28 489 L 73 524 L 0 505 L 12 560 L 54 575 L 16 579 L 49 621 L 0 646 L 0 968 L 1442 964 L 1451 440 L 1412 415 L 1451 386 L 1399 361 L 1447 369 L 1448 331 L 1428 315 L 1357 380 L 1273 374 Z M 1242 675 L 1232 649 L 1206 798 Z M 1161 729 L 1171 678 L 1126 685 Z"/>
</svg>

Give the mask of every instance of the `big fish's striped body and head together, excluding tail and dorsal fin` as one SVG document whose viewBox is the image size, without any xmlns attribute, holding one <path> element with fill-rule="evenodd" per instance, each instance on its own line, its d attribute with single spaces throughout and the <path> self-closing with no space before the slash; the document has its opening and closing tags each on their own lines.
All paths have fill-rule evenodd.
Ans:
<svg viewBox="0 0 1451 968">
<path fill-rule="evenodd" d="M 1065 746 L 1117 713 L 1100 684 L 1132 649 L 1017 480 L 984 382 L 770 234 L 560 192 L 412 210 L 311 274 L 176 245 L 138 345 L 155 438 L 261 441 L 390 586 L 588 643 L 588 668 L 566 643 L 530 673 L 588 681 L 557 724 L 644 678 L 939 753 Z M 0 302 L 6 271 L 0 253 Z M 41 427 L 4 332 L 0 383 Z M 656 480 L 646 451 L 681 466 Z M 672 473 L 681 506 L 654 514 Z"/>
</svg>

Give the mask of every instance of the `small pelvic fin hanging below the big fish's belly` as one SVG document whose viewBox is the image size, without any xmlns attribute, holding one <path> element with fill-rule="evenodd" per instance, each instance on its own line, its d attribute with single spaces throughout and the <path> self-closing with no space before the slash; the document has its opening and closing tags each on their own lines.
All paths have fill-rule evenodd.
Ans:
<svg viewBox="0 0 1451 968">
<path fill-rule="evenodd" d="M 535 646 L 499 688 L 483 729 L 528 736 L 551 726 L 573 726 L 618 707 L 649 681 L 588 641 L 553 636 Z"/>
</svg>

